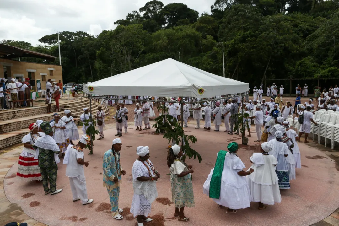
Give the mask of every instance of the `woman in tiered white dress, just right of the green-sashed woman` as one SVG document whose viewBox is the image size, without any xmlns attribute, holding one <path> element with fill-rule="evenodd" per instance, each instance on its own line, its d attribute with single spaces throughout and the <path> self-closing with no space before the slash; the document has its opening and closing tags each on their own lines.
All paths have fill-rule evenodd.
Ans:
<svg viewBox="0 0 339 226">
<path fill-rule="evenodd" d="M 279 179 L 274 169 L 278 161 L 274 156 L 268 155 L 273 148 L 270 143 L 264 142 L 260 148 L 262 153 L 254 153 L 250 158 L 253 163 L 250 169 L 254 169 L 254 172 L 246 180 L 251 191 L 251 202 L 259 203 L 259 210 L 267 209 L 263 204 L 274 205 L 281 202 Z"/>
</svg>

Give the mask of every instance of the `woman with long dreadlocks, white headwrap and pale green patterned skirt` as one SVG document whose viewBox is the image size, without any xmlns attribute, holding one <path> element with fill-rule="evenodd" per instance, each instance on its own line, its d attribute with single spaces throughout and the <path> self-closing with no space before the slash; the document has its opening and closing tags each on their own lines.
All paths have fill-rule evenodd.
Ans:
<svg viewBox="0 0 339 226">
<path fill-rule="evenodd" d="M 195 207 L 191 165 L 181 160 L 183 152 L 179 145 L 169 148 L 167 153 L 167 166 L 171 171 L 172 202 L 175 205 L 174 217 L 179 221 L 189 221 L 184 215 L 184 208 Z M 180 209 L 180 211 L 179 211 Z"/>
</svg>

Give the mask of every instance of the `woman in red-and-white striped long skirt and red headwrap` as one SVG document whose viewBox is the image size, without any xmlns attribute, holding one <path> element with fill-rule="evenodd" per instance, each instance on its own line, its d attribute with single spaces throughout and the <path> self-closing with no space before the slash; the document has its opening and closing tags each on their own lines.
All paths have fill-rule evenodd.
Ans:
<svg viewBox="0 0 339 226">
<path fill-rule="evenodd" d="M 32 123 L 28 128 L 31 132 L 21 140 L 24 148 L 19 157 L 17 178 L 24 181 L 41 181 L 41 172 L 38 166 L 39 160 L 34 159 L 35 150 L 32 148 L 32 144 L 41 135 L 38 133 L 39 129 L 36 123 Z"/>
</svg>

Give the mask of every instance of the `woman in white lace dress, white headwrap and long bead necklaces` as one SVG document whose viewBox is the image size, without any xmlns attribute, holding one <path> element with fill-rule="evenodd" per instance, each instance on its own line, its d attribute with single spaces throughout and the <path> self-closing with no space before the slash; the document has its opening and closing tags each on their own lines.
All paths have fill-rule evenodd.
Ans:
<svg viewBox="0 0 339 226">
<path fill-rule="evenodd" d="M 148 146 L 139 146 L 137 155 L 139 158 L 132 167 L 134 195 L 131 213 L 133 217 L 137 217 L 138 226 L 143 226 L 143 221 L 152 221 L 147 216 L 151 212 L 153 201 L 158 197 L 156 181 L 160 178 L 160 174 L 149 160 Z"/>
</svg>

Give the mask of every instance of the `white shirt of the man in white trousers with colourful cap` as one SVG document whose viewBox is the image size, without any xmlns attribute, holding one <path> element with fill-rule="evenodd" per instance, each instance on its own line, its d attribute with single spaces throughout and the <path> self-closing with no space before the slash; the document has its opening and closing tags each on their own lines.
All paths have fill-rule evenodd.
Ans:
<svg viewBox="0 0 339 226">
<path fill-rule="evenodd" d="M 81 174 L 85 174 L 83 165 L 77 162 L 77 159 L 84 159 L 84 152 L 78 151 L 72 147 L 68 148 L 68 164 L 66 166 L 67 177 L 78 177 Z"/>
</svg>

